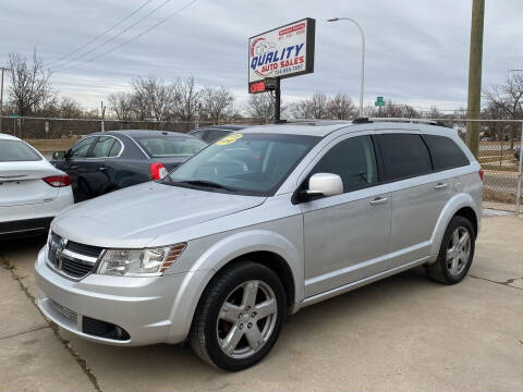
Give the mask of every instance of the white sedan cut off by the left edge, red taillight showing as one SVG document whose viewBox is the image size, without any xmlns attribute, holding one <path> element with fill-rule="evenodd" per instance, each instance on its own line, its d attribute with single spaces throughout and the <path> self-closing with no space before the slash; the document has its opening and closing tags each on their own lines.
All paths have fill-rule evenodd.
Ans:
<svg viewBox="0 0 523 392">
<path fill-rule="evenodd" d="M 45 232 L 73 203 L 69 175 L 27 143 L 0 134 L 0 238 Z"/>
</svg>

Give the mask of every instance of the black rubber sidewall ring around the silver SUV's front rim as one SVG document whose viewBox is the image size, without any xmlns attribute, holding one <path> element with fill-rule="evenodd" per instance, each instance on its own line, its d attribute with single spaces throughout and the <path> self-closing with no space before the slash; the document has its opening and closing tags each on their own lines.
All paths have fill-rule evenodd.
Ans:
<svg viewBox="0 0 523 392">
<path fill-rule="evenodd" d="M 226 273 L 221 279 L 218 279 L 216 283 L 219 289 L 216 295 L 208 297 L 208 301 L 210 301 L 210 304 L 208 304 L 209 311 L 204 320 L 205 348 L 207 354 L 216 366 L 229 371 L 238 371 L 251 367 L 269 353 L 278 340 L 287 313 L 285 292 L 278 275 L 269 268 L 254 262 L 248 262 L 242 267 L 243 268 L 232 269 L 230 273 Z M 250 280 L 260 280 L 272 289 L 278 304 L 277 320 L 271 336 L 262 350 L 248 358 L 235 359 L 229 357 L 221 351 L 216 335 L 216 323 L 221 305 L 227 297 L 235 287 Z"/>
</svg>

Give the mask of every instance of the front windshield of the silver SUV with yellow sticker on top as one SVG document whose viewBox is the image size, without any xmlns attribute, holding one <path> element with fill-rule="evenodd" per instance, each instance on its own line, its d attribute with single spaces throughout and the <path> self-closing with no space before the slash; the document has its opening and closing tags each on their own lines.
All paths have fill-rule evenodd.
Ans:
<svg viewBox="0 0 523 392">
<path fill-rule="evenodd" d="M 316 136 L 234 133 L 195 155 L 170 184 L 268 196 L 318 143 Z"/>
</svg>

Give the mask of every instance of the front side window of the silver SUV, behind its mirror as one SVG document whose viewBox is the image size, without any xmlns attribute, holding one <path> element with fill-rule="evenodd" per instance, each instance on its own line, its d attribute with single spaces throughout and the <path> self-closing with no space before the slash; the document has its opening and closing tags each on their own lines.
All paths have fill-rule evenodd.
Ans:
<svg viewBox="0 0 523 392">
<path fill-rule="evenodd" d="M 316 173 L 338 174 L 345 193 L 376 184 L 378 173 L 370 137 L 356 136 L 340 142 L 319 160 L 309 175 Z"/>
</svg>

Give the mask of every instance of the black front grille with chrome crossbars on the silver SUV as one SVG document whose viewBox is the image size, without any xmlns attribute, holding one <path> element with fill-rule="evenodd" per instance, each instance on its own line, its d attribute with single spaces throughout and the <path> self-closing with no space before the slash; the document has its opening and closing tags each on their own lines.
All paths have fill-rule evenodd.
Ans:
<svg viewBox="0 0 523 392">
<path fill-rule="evenodd" d="M 48 264 L 59 273 L 82 279 L 93 271 L 102 248 L 66 241 L 51 233 L 49 241 Z"/>
</svg>

